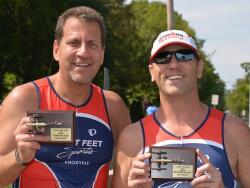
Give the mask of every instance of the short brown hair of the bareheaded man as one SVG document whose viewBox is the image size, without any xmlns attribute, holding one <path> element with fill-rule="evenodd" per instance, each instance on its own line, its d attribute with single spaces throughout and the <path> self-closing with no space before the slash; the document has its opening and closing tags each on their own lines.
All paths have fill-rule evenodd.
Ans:
<svg viewBox="0 0 250 188">
<path fill-rule="evenodd" d="M 105 40 L 106 40 L 106 29 L 105 24 L 102 15 L 97 12 L 96 10 L 86 7 L 86 6 L 79 6 L 79 7 L 73 7 L 70 9 L 67 9 L 65 12 L 63 12 L 56 24 L 55 28 L 55 39 L 57 41 L 61 41 L 63 37 L 63 27 L 67 21 L 68 18 L 75 17 L 83 22 L 97 22 L 100 26 L 101 30 L 101 43 L 102 47 L 105 46 Z"/>
</svg>

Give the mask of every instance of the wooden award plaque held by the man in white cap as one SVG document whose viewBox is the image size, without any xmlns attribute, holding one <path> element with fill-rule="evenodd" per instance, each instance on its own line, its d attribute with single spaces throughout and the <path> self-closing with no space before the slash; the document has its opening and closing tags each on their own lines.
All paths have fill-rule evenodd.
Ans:
<svg viewBox="0 0 250 188">
<path fill-rule="evenodd" d="M 150 147 L 152 179 L 192 181 L 196 172 L 195 148 Z"/>
</svg>

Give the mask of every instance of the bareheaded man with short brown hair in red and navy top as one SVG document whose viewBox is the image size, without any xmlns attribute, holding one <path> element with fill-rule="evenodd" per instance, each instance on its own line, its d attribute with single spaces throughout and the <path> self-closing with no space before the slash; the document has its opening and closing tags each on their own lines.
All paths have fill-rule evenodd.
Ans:
<svg viewBox="0 0 250 188">
<path fill-rule="evenodd" d="M 53 45 L 59 71 L 16 87 L 3 102 L 0 186 L 107 187 L 113 147 L 130 117 L 120 96 L 92 83 L 105 38 L 103 18 L 92 8 L 70 8 L 59 17 Z M 34 110 L 75 111 L 74 144 L 44 144 L 48 136 L 29 133 L 27 111 Z"/>
</svg>

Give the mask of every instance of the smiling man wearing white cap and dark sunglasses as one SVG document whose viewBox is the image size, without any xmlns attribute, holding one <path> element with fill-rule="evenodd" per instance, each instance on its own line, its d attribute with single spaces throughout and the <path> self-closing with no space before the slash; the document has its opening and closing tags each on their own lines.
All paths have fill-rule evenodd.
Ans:
<svg viewBox="0 0 250 188">
<path fill-rule="evenodd" d="M 149 61 L 159 88 L 157 112 L 126 127 L 120 135 L 114 187 L 250 187 L 250 131 L 236 117 L 203 104 L 197 80 L 203 63 L 194 40 L 180 30 L 160 33 Z M 191 182 L 152 180 L 150 146 L 197 148 Z"/>
</svg>

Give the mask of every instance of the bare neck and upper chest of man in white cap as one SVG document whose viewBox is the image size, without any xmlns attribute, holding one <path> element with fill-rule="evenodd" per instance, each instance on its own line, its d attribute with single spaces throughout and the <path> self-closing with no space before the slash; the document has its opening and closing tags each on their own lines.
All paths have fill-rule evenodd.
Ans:
<svg viewBox="0 0 250 188">
<path fill-rule="evenodd" d="M 175 135 L 188 135 L 205 119 L 208 107 L 198 95 L 161 96 L 161 106 L 156 114 L 160 123 Z"/>
</svg>

